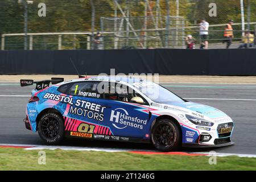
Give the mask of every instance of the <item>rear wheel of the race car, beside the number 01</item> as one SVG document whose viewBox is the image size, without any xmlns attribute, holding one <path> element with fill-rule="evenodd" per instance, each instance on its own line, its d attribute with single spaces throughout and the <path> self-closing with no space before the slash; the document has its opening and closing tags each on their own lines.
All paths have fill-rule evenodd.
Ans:
<svg viewBox="0 0 256 182">
<path fill-rule="evenodd" d="M 47 144 L 57 144 L 64 139 L 63 117 L 57 113 L 46 113 L 38 122 L 38 134 Z"/>
</svg>

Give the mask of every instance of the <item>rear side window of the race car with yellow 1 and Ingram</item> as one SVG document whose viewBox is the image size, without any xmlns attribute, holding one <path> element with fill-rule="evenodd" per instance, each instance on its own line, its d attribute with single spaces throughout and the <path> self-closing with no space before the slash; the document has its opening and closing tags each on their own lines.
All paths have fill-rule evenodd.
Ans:
<svg viewBox="0 0 256 182">
<path fill-rule="evenodd" d="M 98 82 L 75 82 L 69 88 L 69 94 L 80 97 L 103 98 L 103 94 L 97 92 Z"/>
</svg>

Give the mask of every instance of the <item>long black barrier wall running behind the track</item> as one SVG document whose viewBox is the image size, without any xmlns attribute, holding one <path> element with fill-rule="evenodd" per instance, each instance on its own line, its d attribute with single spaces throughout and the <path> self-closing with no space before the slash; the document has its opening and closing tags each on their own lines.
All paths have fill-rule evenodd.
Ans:
<svg viewBox="0 0 256 182">
<path fill-rule="evenodd" d="M 256 75 L 256 49 L 0 51 L 0 75 Z"/>
</svg>

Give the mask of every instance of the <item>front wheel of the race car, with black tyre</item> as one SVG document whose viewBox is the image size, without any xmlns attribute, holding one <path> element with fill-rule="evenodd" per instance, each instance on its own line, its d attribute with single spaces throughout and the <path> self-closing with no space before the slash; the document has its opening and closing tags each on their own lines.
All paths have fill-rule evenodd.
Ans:
<svg viewBox="0 0 256 182">
<path fill-rule="evenodd" d="M 160 151 L 174 151 L 181 144 L 180 127 L 170 119 L 160 119 L 152 127 L 151 141 Z"/>
</svg>

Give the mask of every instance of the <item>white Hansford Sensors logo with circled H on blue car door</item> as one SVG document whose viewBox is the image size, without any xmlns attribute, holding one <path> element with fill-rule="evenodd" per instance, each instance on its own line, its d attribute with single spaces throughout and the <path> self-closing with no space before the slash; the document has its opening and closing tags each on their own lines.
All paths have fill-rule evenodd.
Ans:
<svg viewBox="0 0 256 182">
<path fill-rule="evenodd" d="M 134 127 L 143 130 L 143 126 L 147 125 L 147 119 L 140 119 L 138 117 L 132 117 L 127 110 L 123 108 L 117 108 L 111 111 L 110 121 L 112 125 L 117 129 L 125 129 L 126 127 Z"/>
</svg>

